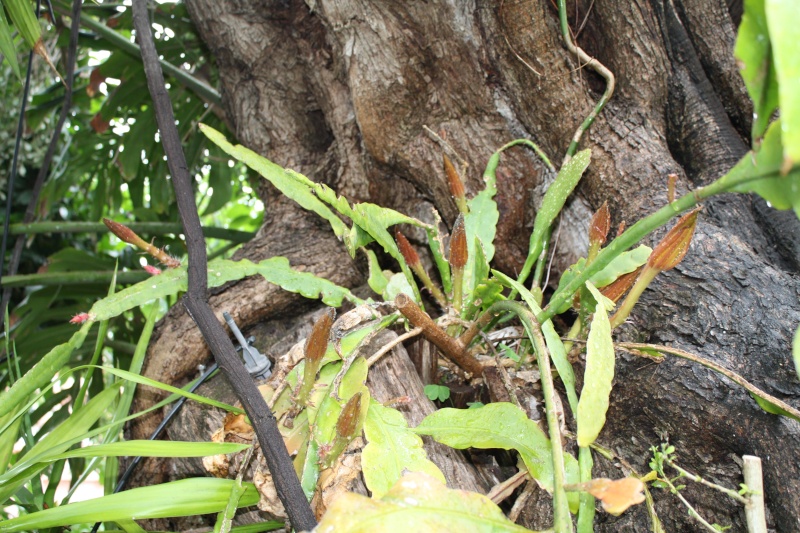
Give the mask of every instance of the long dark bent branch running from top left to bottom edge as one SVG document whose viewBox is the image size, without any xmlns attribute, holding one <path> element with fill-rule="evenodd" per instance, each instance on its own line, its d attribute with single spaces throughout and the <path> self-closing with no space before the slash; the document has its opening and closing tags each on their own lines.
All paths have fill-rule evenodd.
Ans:
<svg viewBox="0 0 800 533">
<path fill-rule="evenodd" d="M 172 102 L 166 90 L 158 52 L 153 42 L 147 0 L 133 2 L 133 21 L 147 76 L 147 86 L 153 98 L 161 143 L 164 146 L 164 153 L 167 155 L 167 164 L 172 175 L 178 210 L 183 223 L 184 235 L 186 235 L 186 246 L 189 253 L 189 281 L 182 302 L 200 328 L 214 358 L 250 417 L 275 482 L 278 497 L 286 509 L 292 526 L 298 531 L 311 530 L 316 527 L 317 521 L 300 486 L 300 481 L 297 479 L 292 460 L 278 430 L 275 416 L 267 407 L 264 398 L 245 370 L 242 360 L 236 354 L 233 343 L 208 305 L 208 264 L 205 240 L 197 213 L 192 179 L 189 176 L 186 157 L 181 147 L 178 129 L 175 126 Z"/>
</svg>

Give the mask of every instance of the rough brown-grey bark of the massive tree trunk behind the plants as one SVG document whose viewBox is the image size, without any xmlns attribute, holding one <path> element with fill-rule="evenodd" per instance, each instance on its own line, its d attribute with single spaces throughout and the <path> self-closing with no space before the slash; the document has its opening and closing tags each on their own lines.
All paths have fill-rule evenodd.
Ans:
<svg viewBox="0 0 800 533">
<path fill-rule="evenodd" d="M 614 225 L 630 223 L 665 203 L 667 174 L 678 174 L 684 191 L 722 175 L 746 152 L 752 116 L 732 57 L 741 2 L 569 4 L 578 44 L 615 73 L 617 91 L 582 141 L 592 163 L 561 220 L 555 279 L 585 253 L 588 219 L 602 202 L 609 202 Z M 442 148 L 423 126 L 468 162 L 466 186 L 474 193 L 486 159 L 513 138 L 530 138 L 560 160 L 603 90 L 602 79 L 563 45 L 550 0 L 187 5 L 219 66 L 239 142 L 352 200 L 427 220 L 434 206 L 448 225 L 456 207 L 441 170 Z M 536 206 L 552 178 L 531 153 L 504 156 L 496 268 L 521 267 Z M 259 192 L 266 221 L 241 256 L 285 255 L 342 285 L 363 280 L 314 215 L 266 185 Z M 799 261 L 793 214 L 749 196 L 706 202 L 686 260 L 646 292 L 618 338 L 701 354 L 797 402 L 800 384 L 789 353 L 800 322 Z M 234 311 L 245 326 L 303 310 L 297 297 L 260 279 L 224 287 L 211 305 Z M 176 383 L 208 357 L 179 307 L 151 346 L 146 373 Z M 771 525 L 800 531 L 796 422 L 764 413 L 741 388 L 699 366 L 654 365 L 621 353 L 618 360 L 604 446 L 643 473 L 649 447 L 668 438 L 681 464 L 732 487 L 741 482 L 736 457 L 758 455 Z M 137 407 L 151 402 L 142 395 Z M 147 435 L 156 422 L 132 432 Z M 620 475 L 602 461 L 598 470 Z M 158 465 L 145 472 L 143 482 L 168 475 Z M 659 491 L 655 497 L 668 531 L 696 530 L 674 497 Z M 743 511 L 723 496 L 690 487 L 686 497 L 709 521 L 743 530 Z M 640 506 L 617 519 L 599 513 L 596 526 L 647 531 L 648 523 Z"/>
</svg>

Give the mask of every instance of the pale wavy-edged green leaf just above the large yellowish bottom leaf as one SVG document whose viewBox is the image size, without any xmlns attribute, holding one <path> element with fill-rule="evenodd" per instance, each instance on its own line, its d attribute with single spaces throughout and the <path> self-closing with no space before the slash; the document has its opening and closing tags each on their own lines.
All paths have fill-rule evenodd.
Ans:
<svg viewBox="0 0 800 533">
<path fill-rule="evenodd" d="M 445 482 L 444 474 L 428 459 L 422 439 L 408 429 L 400 411 L 370 402 L 364 435 L 367 445 L 361 455 L 361 468 L 373 498 L 382 498 L 404 471 L 424 472 Z"/>
</svg>

